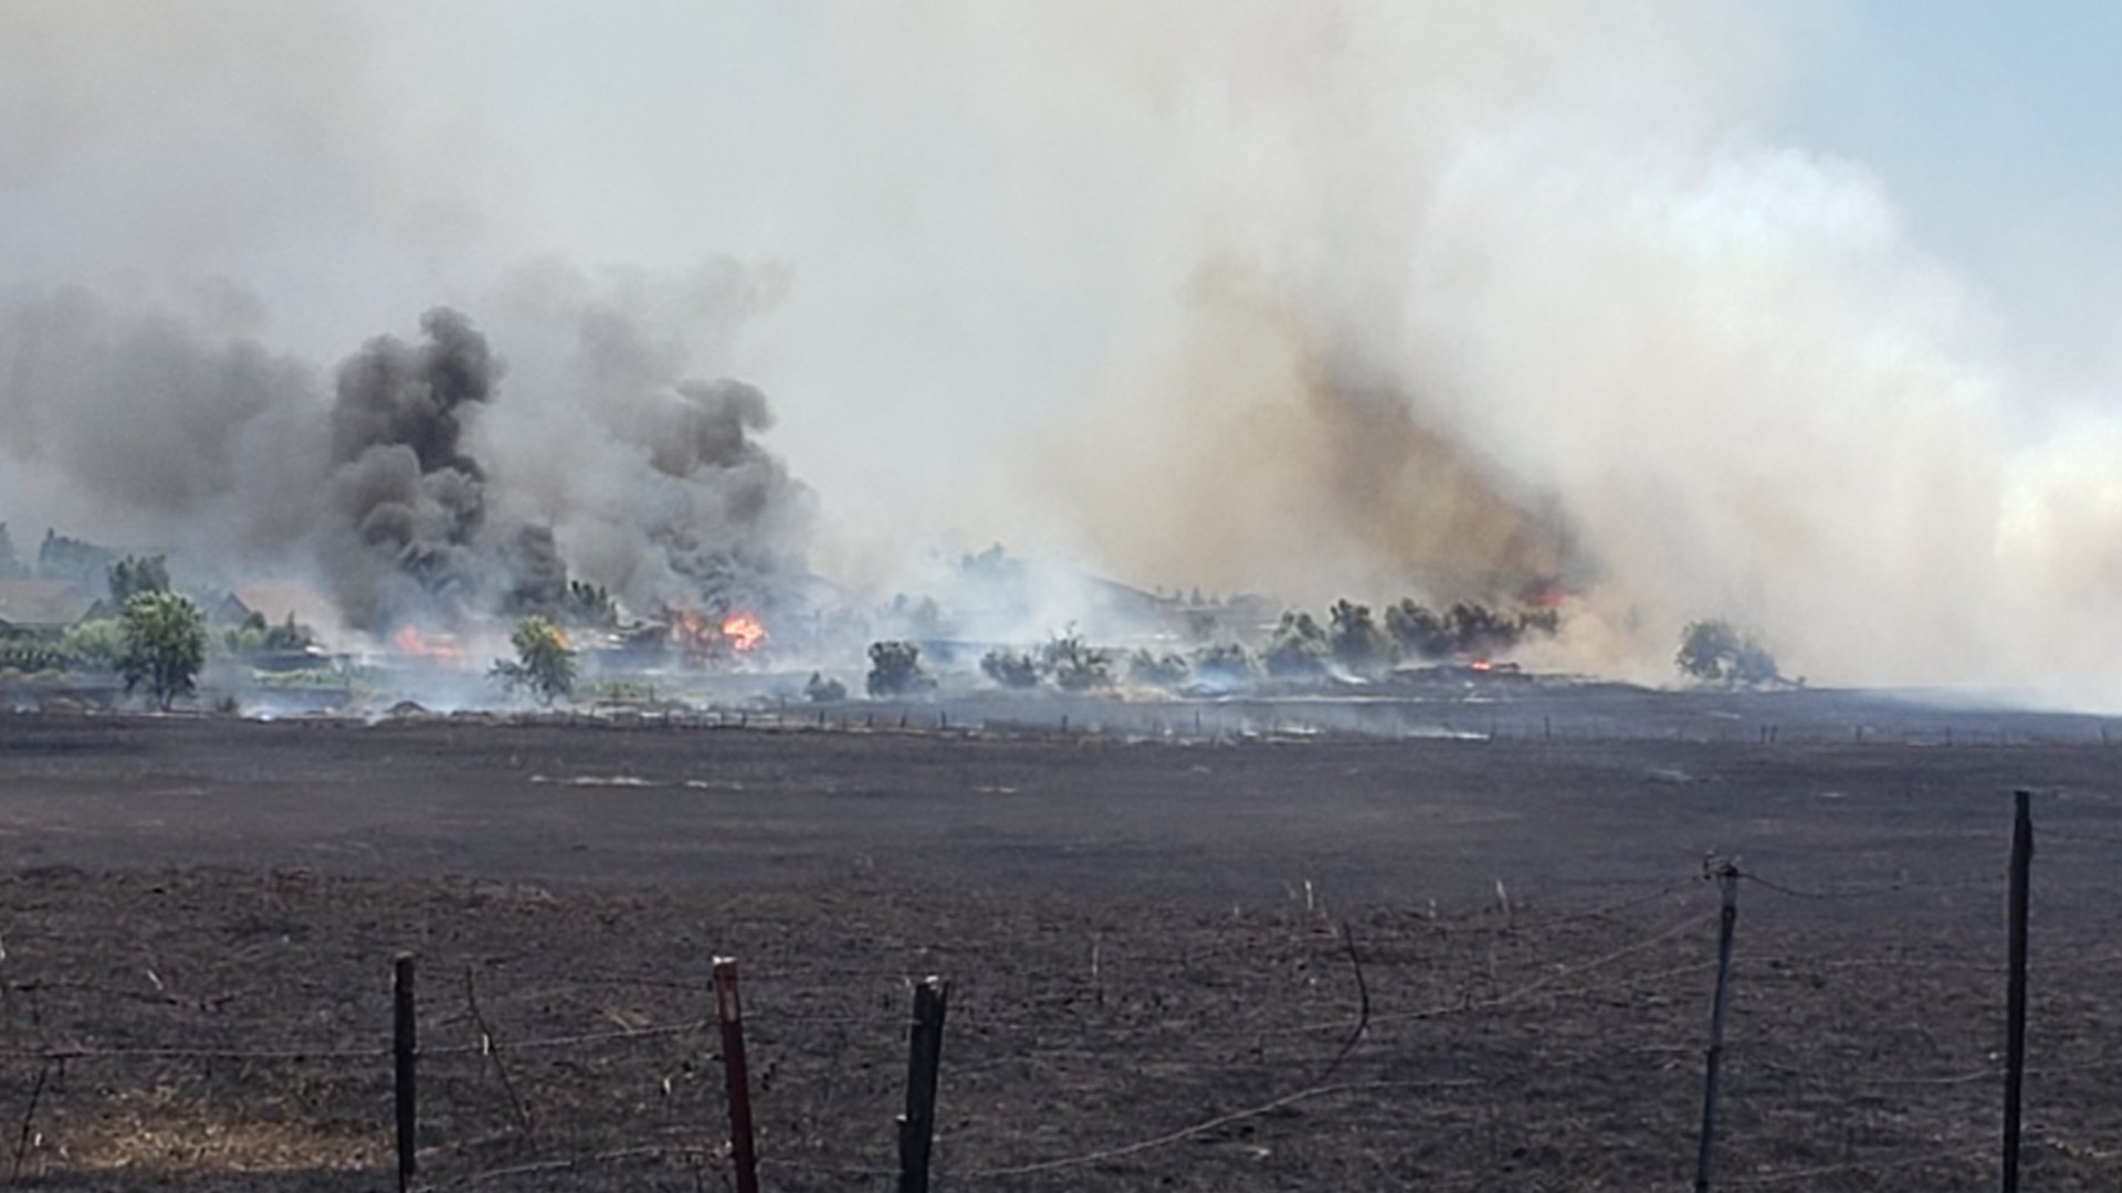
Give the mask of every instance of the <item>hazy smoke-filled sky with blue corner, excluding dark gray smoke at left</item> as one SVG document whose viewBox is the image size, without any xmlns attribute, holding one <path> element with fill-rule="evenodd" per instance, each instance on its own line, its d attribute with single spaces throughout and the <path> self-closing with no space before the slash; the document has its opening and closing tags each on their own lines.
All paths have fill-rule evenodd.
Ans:
<svg viewBox="0 0 2122 1193">
<path fill-rule="evenodd" d="M 881 590 L 989 541 L 1301 601 L 1562 575 L 1572 664 L 1668 671 L 1732 616 L 1827 677 L 2097 658 L 2071 698 L 2122 705 L 2118 34 L 2077 0 L 0 0 L 0 297 L 318 376 L 458 306 L 509 361 L 503 480 L 567 467 L 567 318 L 624 310 L 764 388 L 815 567 Z M 79 427 L 19 431 L 57 399 L 0 399 L 15 518 L 125 533 L 49 450 Z M 579 486 L 511 490 L 564 529 Z"/>
</svg>

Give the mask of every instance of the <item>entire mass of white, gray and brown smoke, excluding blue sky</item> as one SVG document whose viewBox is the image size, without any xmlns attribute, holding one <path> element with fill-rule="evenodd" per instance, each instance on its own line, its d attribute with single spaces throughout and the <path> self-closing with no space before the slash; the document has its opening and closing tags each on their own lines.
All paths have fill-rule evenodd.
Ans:
<svg viewBox="0 0 2122 1193">
<path fill-rule="evenodd" d="M 813 531 L 885 594 L 944 537 L 1314 607 L 1555 580 L 1558 664 L 1723 616 L 2122 705 L 2122 420 L 1763 132 L 1791 6 L 696 8 L 6 6 L 17 537 L 314 563 L 373 624 L 556 560 L 779 592 Z M 730 246 L 794 274 L 550 263 Z M 329 363 L 437 301 L 507 378 L 348 454 Z"/>
</svg>

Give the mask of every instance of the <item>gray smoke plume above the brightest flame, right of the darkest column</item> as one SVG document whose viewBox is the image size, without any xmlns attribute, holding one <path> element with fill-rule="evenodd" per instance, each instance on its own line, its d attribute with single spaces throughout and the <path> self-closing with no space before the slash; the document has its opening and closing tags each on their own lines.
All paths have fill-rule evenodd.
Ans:
<svg viewBox="0 0 2122 1193">
<path fill-rule="evenodd" d="M 592 284 L 539 276 L 507 297 L 533 350 L 556 359 L 511 391 L 492 463 L 518 478 L 581 577 L 639 613 L 662 607 L 775 613 L 800 605 L 813 492 L 760 444 L 760 388 L 700 380 L 726 369 L 734 329 L 777 282 L 734 263 Z"/>
</svg>

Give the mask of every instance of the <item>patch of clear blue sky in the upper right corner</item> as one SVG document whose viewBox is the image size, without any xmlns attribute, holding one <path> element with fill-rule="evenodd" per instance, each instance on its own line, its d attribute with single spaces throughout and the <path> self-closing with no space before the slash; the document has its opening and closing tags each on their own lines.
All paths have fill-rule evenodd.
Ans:
<svg viewBox="0 0 2122 1193">
<path fill-rule="evenodd" d="M 1869 168 L 1910 236 L 2065 371 L 2122 331 L 2122 4 L 1846 0 L 1799 21 L 1787 140 Z"/>
</svg>

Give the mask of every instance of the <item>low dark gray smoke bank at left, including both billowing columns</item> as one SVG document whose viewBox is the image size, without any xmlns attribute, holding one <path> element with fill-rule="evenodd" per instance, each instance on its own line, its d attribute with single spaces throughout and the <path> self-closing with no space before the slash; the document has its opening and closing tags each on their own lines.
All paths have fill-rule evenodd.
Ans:
<svg viewBox="0 0 2122 1193">
<path fill-rule="evenodd" d="M 639 340 L 624 323 L 605 312 L 598 335 L 628 384 L 592 416 L 554 397 L 579 374 L 503 401 L 507 367 L 448 308 L 416 342 L 365 342 L 327 401 L 318 369 L 250 340 L 19 293 L 0 301 L 0 516 L 231 584 L 314 573 L 378 635 L 554 611 L 571 577 L 637 611 L 772 605 L 806 573 L 808 490 L 755 442 L 766 397 L 658 378 L 613 348 Z"/>
</svg>

